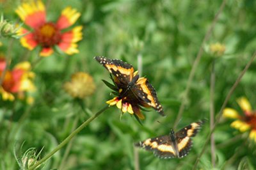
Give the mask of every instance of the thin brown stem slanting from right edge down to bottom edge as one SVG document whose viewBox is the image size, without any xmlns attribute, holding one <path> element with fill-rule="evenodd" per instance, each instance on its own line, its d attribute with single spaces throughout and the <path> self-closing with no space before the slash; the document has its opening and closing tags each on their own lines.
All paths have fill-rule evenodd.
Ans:
<svg viewBox="0 0 256 170">
<path fill-rule="evenodd" d="M 228 91 L 228 95 L 227 97 L 225 98 L 223 104 L 221 105 L 221 109 L 220 111 L 218 112 L 218 116 L 216 118 L 216 121 L 214 123 L 214 126 L 212 127 L 212 130 L 210 132 L 210 134 L 207 136 L 207 139 L 205 141 L 205 144 L 203 146 L 203 149 L 202 151 L 200 152 L 199 156 L 196 158 L 196 162 L 195 162 L 195 165 L 193 167 L 193 169 L 196 169 L 197 165 L 198 165 L 198 162 L 200 160 L 200 158 L 202 157 L 202 155 L 204 154 L 204 151 L 206 149 L 206 146 L 207 144 L 209 143 L 209 140 L 211 139 L 211 134 L 214 132 L 215 128 L 216 128 L 216 125 L 219 123 L 220 119 L 221 119 L 221 116 L 223 114 L 223 110 L 225 109 L 226 105 L 227 105 L 227 102 L 229 100 L 229 98 L 231 97 L 232 93 L 234 92 L 234 90 L 236 89 L 237 87 L 237 84 L 241 81 L 244 73 L 246 73 L 246 71 L 248 70 L 248 68 L 250 67 L 250 65 L 252 65 L 252 62 L 253 60 L 256 58 L 256 51 L 254 52 L 252 58 L 250 59 L 250 61 L 247 63 L 247 65 L 244 67 L 244 70 L 239 74 L 239 76 L 237 77 L 236 79 L 236 82 L 233 84 L 232 88 L 230 88 L 230 90 Z"/>
</svg>

